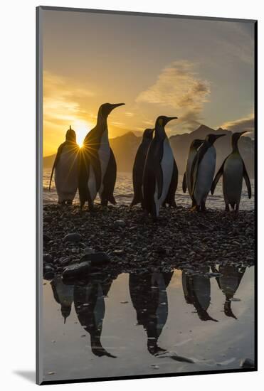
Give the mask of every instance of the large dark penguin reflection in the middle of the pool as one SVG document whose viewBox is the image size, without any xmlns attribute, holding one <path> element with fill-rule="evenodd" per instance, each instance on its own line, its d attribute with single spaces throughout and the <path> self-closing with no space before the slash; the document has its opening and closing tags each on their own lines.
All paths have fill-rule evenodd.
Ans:
<svg viewBox="0 0 264 391">
<path fill-rule="evenodd" d="M 168 317 L 167 286 L 173 272 L 130 274 L 130 296 L 137 312 L 137 323 L 147 331 L 147 349 L 152 355 L 167 350 L 158 346 L 158 339 Z"/>
</svg>

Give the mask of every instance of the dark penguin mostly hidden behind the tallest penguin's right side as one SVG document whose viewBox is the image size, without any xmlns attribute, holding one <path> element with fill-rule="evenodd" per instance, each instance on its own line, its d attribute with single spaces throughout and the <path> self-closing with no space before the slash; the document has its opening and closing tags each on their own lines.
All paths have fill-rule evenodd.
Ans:
<svg viewBox="0 0 264 391">
<path fill-rule="evenodd" d="M 116 204 L 115 197 L 114 197 L 114 188 L 115 188 L 115 181 L 117 179 L 117 163 L 115 161 L 115 156 L 112 152 L 112 149 L 110 148 L 110 158 L 107 165 L 107 169 L 105 171 L 105 176 L 102 179 L 103 183 L 103 191 L 100 195 L 102 203 L 104 201 L 109 201 L 113 205 Z"/>
</svg>

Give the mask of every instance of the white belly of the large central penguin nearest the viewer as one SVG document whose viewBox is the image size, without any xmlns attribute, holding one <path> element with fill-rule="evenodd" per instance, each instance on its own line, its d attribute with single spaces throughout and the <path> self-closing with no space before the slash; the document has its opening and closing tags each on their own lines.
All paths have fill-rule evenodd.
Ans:
<svg viewBox="0 0 264 391">
<path fill-rule="evenodd" d="M 174 156 L 172 154 L 171 146 L 167 138 L 164 139 L 161 167 L 162 167 L 162 195 L 160 196 L 160 198 L 158 198 L 157 180 L 156 180 L 156 187 L 154 193 L 154 202 L 156 205 L 157 216 L 159 216 L 159 208 L 164 203 L 164 200 L 167 197 L 169 186 L 171 184 L 173 168 L 174 168 Z"/>
</svg>

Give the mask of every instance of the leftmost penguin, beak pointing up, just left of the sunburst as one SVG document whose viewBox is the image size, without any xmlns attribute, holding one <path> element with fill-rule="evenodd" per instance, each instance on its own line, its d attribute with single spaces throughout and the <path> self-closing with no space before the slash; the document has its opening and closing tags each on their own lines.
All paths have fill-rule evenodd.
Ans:
<svg viewBox="0 0 264 391">
<path fill-rule="evenodd" d="M 51 171 L 49 191 L 53 171 L 55 170 L 55 185 L 58 194 L 58 203 L 71 205 L 78 188 L 79 146 L 76 143 L 76 134 L 68 129 L 66 139 L 60 144 L 56 159 Z"/>
</svg>

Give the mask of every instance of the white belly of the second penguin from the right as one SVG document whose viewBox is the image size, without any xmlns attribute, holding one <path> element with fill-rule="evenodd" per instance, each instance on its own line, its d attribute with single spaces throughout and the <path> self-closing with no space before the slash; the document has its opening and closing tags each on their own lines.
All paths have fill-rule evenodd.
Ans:
<svg viewBox="0 0 264 391">
<path fill-rule="evenodd" d="M 194 198 L 197 205 L 206 201 L 207 195 L 211 190 L 214 171 L 216 170 L 216 149 L 210 146 L 198 167 L 196 186 L 194 189 Z"/>
</svg>

